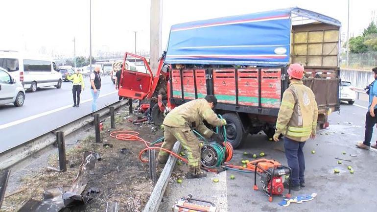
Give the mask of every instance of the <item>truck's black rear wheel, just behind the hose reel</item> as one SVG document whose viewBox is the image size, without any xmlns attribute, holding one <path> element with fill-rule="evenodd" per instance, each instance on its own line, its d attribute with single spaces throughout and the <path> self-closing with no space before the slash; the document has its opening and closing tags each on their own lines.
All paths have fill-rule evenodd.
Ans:
<svg viewBox="0 0 377 212">
<path fill-rule="evenodd" d="M 248 134 L 243 132 L 242 121 L 236 114 L 227 113 L 223 115 L 223 118 L 227 120 L 227 125 L 225 126 L 227 141 L 236 149 Z"/>
</svg>

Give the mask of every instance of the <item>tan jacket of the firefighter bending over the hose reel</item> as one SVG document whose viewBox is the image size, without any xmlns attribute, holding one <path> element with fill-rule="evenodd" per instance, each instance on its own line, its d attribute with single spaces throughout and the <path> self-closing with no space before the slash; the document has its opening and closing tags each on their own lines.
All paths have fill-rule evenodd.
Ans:
<svg viewBox="0 0 377 212">
<path fill-rule="evenodd" d="M 201 134 L 209 138 L 213 132 L 204 125 L 203 120 L 213 126 L 224 124 L 223 120 L 217 118 L 207 100 L 201 98 L 174 108 L 166 115 L 163 124 L 169 127 L 196 128 Z"/>
</svg>

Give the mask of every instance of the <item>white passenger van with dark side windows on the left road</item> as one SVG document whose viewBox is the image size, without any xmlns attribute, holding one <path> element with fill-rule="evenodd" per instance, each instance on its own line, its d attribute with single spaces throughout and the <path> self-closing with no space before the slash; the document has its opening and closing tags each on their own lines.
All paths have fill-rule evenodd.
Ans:
<svg viewBox="0 0 377 212">
<path fill-rule="evenodd" d="M 55 86 L 60 89 L 62 86 L 62 74 L 56 63 L 48 57 L 26 56 L 17 51 L 0 50 L 0 67 L 31 92 L 41 87 Z"/>
</svg>

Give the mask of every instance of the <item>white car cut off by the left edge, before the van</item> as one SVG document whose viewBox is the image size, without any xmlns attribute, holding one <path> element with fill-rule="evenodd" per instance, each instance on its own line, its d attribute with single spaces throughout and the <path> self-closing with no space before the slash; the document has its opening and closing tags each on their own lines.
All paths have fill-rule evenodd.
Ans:
<svg viewBox="0 0 377 212">
<path fill-rule="evenodd" d="M 24 105 L 24 86 L 8 71 L 0 68 L 0 105 L 13 103 L 16 107 Z"/>
</svg>

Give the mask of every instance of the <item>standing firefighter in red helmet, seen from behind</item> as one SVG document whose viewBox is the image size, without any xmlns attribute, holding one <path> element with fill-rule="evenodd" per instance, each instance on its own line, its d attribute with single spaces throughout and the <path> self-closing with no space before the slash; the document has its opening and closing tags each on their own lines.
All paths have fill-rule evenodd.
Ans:
<svg viewBox="0 0 377 212">
<path fill-rule="evenodd" d="M 290 84 L 283 94 L 274 140 L 279 141 L 279 136 L 284 135 L 285 157 L 292 169 L 291 188 L 300 190 L 305 187 L 303 148 L 309 137 L 316 136 L 318 107 L 313 92 L 301 80 L 304 67 L 291 64 L 287 72 Z"/>
</svg>

